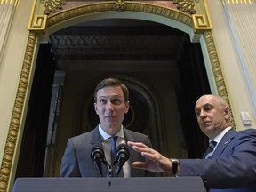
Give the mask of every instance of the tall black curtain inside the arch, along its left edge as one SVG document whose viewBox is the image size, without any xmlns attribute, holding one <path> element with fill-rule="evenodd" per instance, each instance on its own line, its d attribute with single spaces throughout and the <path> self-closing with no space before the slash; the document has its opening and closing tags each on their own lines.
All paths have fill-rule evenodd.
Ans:
<svg viewBox="0 0 256 192">
<path fill-rule="evenodd" d="M 28 103 L 16 177 L 42 177 L 55 60 L 51 44 L 40 44 Z"/>
</svg>

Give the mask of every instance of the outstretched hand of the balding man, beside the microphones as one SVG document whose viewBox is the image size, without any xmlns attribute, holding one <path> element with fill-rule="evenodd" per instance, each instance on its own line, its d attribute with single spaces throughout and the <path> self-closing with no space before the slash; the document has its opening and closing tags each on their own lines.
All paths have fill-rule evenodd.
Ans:
<svg viewBox="0 0 256 192">
<path fill-rule="evenodd" d="M 133 167 L 151 172 L 172 172 L 171 161 L 156 150 L 148 148 L 148 146 L 140 142 L 128 141 L 127 145 L 141 153 L 146 159 L 146 162 L 133 162 Z"/>
</svg>

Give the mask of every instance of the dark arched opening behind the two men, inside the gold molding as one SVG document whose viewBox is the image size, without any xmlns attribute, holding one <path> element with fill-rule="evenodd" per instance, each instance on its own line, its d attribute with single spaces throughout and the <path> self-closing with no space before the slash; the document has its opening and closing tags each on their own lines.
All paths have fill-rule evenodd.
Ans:
<svg viewBox="0 0 256 192">
<path fill-rule="evenodd" d="M 84 118 L 82 113 L 94 112 L 92 97 L 88 101 L 88 108 L 80 112 L 74 112 L 76 106 L 70 107 L 67 102 L 76 100 L 76 105 L 79 105 L 79 94 L 92 94 L 100 78 L 111 75 L 134 77 L 136 81 L 143 82 L 141 87 L 152 88 L 153 100 L 157 100 L 159 107 L 156 108 L 156 113 L 161 114 L 157 119 L 160 124 L 155 128 L 155 132 L 146 132 L 154 140 L 153 145 L 156 149 L 165 155 L 172 155 L 172 134 L 172 141 L 178 143 L 174 145 L 178 152 L 187 151 L 188 157 L 203 155 L 205 138 L 197 127 L 194 104 L 200 95 L 209 93 L 210 88 L 200 44 L 190 43 L 189 36 L 175 28 L 153 22 L 114 20 L 116 26 L 108 26 L 108 22 L 103 21 L 104 26 L 100 26 L 102 22 L 97 21 L 93 25 L 85 23 L 65 28 L 52 34 L 49 44 L 40 45 L 17 177 L 41 177 L 44 174 L 52 82 L 56 71 L 65 71 L 66 76 L 61 96 L 63 100 L 60 100 L 58 140 L 54 146 L 58 154 L 53 161 L 55 167 L 52 168 L 53 173 L 50 176 L 59 176 L 60 158 L 68 137 L 91 129 L 97 124 L 97 116 L 94 115 L 87 116 L 86 120 L 90 122 L 87 128 L 84 128 L 82 121 L 77 121 L 77 116 L 80 116 L 80 119 Z M 84 77 L 86 84 L 81 83 Z M 81 93 L 77 89 L 85 91 Z M 84 95 L 81 96 L 81 100 L 84 100 Z M 145 100 L 140 98 L 140 94 L 134 94 L 132 100 L 140 100 L 136 108 L 141 108 L 141 105 L 145 107 Z M 173 103 L 176 103 L 177 108 L 172 109 Z M 175 114 L 179 115 L 174 115 L 174 110 Z M 128 115 L 124 122 L 131 123 L 132 115 L 134 114 Z M 149 116 L 147 113 L 140 115 L 147 118 Z M 68 124 L 65 122 L 67 118 L 72 119 Z M 143 117 L 143 120 L 145 119 Z M 168 123 L 169 121 L 179 121 L 173 124 L 180 126 L 173 126 Z M 145 126 L 148 124 L 144 121 L 140 123 L 146 124 Z M 79 128 L 71 130 L 76 126 Z M 181 135 L 178 137 L 173 129 L 180 129 L 175 132 L 181 132 Z M 139 126 L 135 131 L 145 132 L 145 129 Z M 161 134 L 157 133 L 156 137 L 156 132 L 160 131 Z M 183 140 L 180 141 L 180 138 Z"/>
</svg>

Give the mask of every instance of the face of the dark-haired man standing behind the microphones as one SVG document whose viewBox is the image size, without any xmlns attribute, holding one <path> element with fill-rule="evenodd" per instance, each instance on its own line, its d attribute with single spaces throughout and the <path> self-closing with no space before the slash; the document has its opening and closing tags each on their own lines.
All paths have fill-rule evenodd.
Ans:
<svg viewBox="0 0 256 192">
<path fill-rule="evenodd" d="M 114 135 L 119 132 L 124 115 L 129 110 L 129 101 L 125 103 L 124 92 L 120 86 L 108 86 L 97 92 L 94 108 L 100 118 L 101 128 Z"/>
</svg>

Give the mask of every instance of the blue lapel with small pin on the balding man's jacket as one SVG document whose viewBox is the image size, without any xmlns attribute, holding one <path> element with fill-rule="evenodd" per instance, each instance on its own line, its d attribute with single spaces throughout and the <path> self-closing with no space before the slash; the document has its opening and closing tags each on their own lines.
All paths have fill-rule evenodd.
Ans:
<svg viewBox="0 0 256 192">
<path fill-rule="evenodd" d="M 230 129 L 220 140 L 220 143 L 215 149 L 212 157 L 220 156 L 224 151 L 224 149 L 227 148 L 230 141 L 234 139 L 235 135 L 236 135 L 236 131 L 234 129 Z"/>
</svg>

